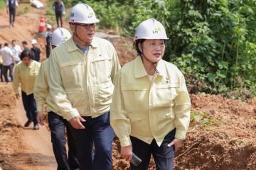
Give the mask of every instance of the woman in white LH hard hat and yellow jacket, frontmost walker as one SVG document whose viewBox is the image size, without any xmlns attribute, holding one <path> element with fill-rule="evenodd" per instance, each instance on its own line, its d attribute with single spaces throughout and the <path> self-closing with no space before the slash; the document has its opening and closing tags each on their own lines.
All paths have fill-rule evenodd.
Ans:
<svg viewBox="0 0 256 170">
<path fill-rule="evenodd" d="M 161 60 L 166 45 L 164 26 L 155 19 L 139 24 L 138 57 L 124 65 L 114 82 L 110 123 L 127 160 L 142 159 L 132 170 L 146 170 L 151 154 L 156 169 L 173 169 L 174 150 L 181 147 L 190 120 L 191 103 L 183 74 Z"/>
</svg>

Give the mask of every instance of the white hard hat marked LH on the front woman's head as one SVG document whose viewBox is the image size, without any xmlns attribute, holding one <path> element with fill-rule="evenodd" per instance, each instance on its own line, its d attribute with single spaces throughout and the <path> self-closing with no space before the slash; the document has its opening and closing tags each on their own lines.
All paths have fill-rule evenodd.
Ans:
<svg viewBox="0 0 256 170">
<path fill-rule="evenodd" d="M 137 27 L 135 40 L 139 39 L 161 39 L 168 40 L 163 24 L 154 18 L 143 21 Z"/>
</svg>

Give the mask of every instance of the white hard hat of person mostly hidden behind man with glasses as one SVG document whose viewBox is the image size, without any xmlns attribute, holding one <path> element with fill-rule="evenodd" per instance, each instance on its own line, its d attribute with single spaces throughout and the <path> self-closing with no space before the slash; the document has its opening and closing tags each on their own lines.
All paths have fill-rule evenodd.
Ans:
<svg viewBox="0 0 256 170">
<path fill-rule="evenodd" d="M 65 28 L 57 28 L 53 31 L 51 45 L 61 45 L 63 42 L 71 38 L 70 32 Z"/>
</svg>

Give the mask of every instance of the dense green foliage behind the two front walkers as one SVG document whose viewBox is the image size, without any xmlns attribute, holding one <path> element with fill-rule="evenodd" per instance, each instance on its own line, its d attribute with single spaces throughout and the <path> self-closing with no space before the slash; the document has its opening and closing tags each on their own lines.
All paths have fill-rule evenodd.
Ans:
<svg viewBox="0 0 256 170">
<path fill-rule="evenodd" d="M 73 5 L 78 0 L 66 0 Z M 134 35 L 147 18 L 164 23 L 164 60 L 185 74 L 191 92 L 256 88 L 256 0 L 98 0 L 100 27 Z"/>
</svg>

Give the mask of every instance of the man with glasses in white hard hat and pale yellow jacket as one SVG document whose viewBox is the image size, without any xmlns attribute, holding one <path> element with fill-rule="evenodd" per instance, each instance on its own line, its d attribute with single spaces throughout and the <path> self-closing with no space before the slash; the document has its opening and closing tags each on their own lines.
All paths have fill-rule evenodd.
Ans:
<svg viewBox="0 0 256 170">
<path fill-rule="evenodd" d="M 98 22 L 90 6 L 73 6 L 69 14 L 73 38 L 50 57 L 50 96 L 73 126 L 80 170 L 112 169 L 110 103 L 120 65 L 113 45 L 95 37 Z"/>
</svg>

